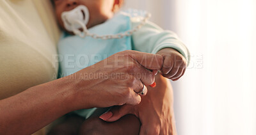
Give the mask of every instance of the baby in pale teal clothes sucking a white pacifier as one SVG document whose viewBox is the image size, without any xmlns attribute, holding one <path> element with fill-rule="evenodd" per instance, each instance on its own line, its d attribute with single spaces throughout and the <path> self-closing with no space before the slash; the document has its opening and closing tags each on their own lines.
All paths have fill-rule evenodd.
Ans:
<svg viewBox="0 0 256 135">
<path fill-rule="evenodd" d="M 185 72 L 189 51 L 172 31 L 149 22 L 147 12 L 118 12 L 123 0 L 54 0 L 64 30 L 58 44 L 61 75 L 70 75 L 116 52 L 134 50 L 164 57 L 161 74 L 176 81 Z M 76 113 L 84 118 L 95 109 Z"/>
</svg>

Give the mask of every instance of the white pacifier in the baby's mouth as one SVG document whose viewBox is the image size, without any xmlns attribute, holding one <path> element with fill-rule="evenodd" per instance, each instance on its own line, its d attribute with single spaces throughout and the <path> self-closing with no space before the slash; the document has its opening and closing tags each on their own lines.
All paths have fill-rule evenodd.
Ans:
<svg viewBox="0 0 256 135">
<path fill-rule="evenodd" d="M 89 22 L 89 17 L 89 10 L 84 5 L 77 6 L 73 10 L 63 12 L 61 14 L 61 19 L 64 23 L 64 27 L 65 29 L 67 29 L 67 31 L 70 32 L 81 28 L 81 26 L 77 24 L 77 21 L 82 22 L 86 26 Z"/>
</svg>

